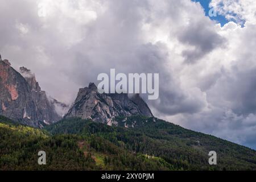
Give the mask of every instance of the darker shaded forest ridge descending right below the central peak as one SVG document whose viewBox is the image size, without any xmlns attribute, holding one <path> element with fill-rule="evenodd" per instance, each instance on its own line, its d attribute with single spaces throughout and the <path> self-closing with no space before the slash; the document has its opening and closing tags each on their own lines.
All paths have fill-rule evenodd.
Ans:
<svg viewBox="0 0 256 182">
<path fill-rule="evenodd" d="M 86 119 L 68 118 L 47 126 L 46 130 L 53 135 L 75 134 L 102 137 L 135 155 L 159 157 L 175 169 L 256 169 L 256 151 L 249 147 L 184 129 L 155 117 L 132 115 L 118 117 L 115 121 L 118 122 L 117 126 L 108 126 Z M 208 163 L 209 151 L 217 152 L 216 166 L 210 166 Z"/>
</svg>

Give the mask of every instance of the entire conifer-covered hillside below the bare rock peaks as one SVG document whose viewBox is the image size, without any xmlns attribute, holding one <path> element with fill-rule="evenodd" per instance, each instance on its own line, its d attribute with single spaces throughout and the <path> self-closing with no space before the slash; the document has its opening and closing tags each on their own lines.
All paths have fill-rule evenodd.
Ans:
<svg viewBox="0 0 256 182">
<path fill-rule="evenodd" d="M 44 130 L 0 121 L 1 170 L 256 169 L 256 151 L 153 117 L 119 117 L 119 127 L 69 118 Z M 40 150 L 47 165 L 37 163 Z M 212 150 L 216 166 L 208 163 Z"/>
</svg>

